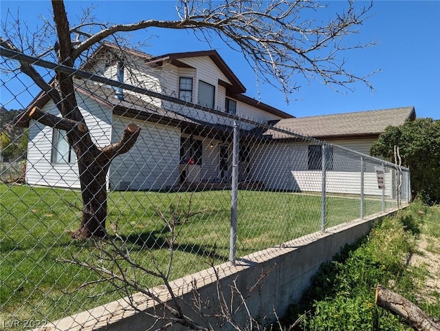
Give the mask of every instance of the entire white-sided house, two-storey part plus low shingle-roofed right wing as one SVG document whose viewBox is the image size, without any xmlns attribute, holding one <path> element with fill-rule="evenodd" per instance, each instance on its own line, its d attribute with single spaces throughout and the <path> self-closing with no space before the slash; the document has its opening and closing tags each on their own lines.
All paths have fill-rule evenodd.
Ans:
<svg viewBox="0 0 440 331">
<path fill-rule="evenodd" d="M 106 43 L 81 69 L 138 87 L 122 89 L 74 79 L 78 107 L 96 145 L 120 140 L 131 122 L 142 128 L 135 146 L 111 163 L 109 190 L 155 190 L 230 180 L 231 115 L 265 123 L 264 129 L 241 123 L 241 180 L 260 182 L 267 189 L 311 190 L 301 186 L 292 171 L 317 173 L 319 161 L 310 160 L 320 155 L 320 147 L 314 140 L 299 141 L 274 129 L 284 128 L 368 153 L 369 145 L 385 127 L 415 118 L 413 107 L 295 118 L 245 96 L 245 87 L 215 50 L 149 56 L 135 50 L 122 52 Z M 140 89 L 168 98 L 142 94 Z M 43 94 L 28 109 L 33 107 L 59 115 L 52 100 Z M 30 128 L 26 182 L 80 188 L 75 154 L 65 132 L 26 116 L 20 123 Z M 292 160 L 274 162 L 286 148 Z M 294 160 L 294 154 L 302 157 Z M 276 176 L 267 175 L 271 173 Z"/>
</svg>

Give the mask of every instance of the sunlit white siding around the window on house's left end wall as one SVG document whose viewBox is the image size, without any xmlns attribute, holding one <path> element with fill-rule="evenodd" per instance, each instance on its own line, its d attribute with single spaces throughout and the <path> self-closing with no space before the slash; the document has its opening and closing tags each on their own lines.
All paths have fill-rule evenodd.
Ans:
<svg viewBox="0 0 440 331">
<path fill-rule="evenodd" d="M 77 96 L 78 107 L 85 118 L 92 140 L 103 147 L 110 142 L 111 113 L 94 100 L 83 100 Z M 58 109 L 50 101 L 43 108 L 51 114 L 59 116 Z M 26 182 L 30 185 L 58 186 L 79 189 L 78 164 L 51 163 L 52 127 L 46 127 L 31 121 L 29 127 L 30 142 L 28 144 L 28 160 Z"/>
</svg>

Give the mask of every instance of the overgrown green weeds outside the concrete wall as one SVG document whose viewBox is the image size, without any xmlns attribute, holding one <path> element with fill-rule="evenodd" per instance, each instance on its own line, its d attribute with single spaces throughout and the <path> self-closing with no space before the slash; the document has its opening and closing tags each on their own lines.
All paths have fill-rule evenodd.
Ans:
<svg viewBox="0 0 440 331">
<path fill-rule="evenodd" d="M 422 235 L 440 237 L 439 221 L 439 206 L 415 202 L 395 217 L 375 224 L 369 236 L 347 246 L 320 268 L 302 301 L 289 308 L 286 325 L 300 318 L 294 330 L 412 330 L 375 305 L 377 284 L 403 295 L 439 319 L 438 293 L 421 295 L 427 294 L 425 284 L 430 281 L 426 268 L 408 265 L 418 250 L 417 239 Z M 437 300 L 432 299 L 436 295 Z"/>
</svg>

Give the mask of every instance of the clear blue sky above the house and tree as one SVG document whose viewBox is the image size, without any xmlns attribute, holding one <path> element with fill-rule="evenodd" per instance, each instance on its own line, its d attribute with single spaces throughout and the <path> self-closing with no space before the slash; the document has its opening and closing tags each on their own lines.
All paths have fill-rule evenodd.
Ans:
<svg viewBox="0 0 440 331">
<path fill-rule="evenodd" d="M 91 4 L 98 21 L 133 23 L 142 19 L 177 19 L 175 1 L 65 1 L 69 21 Z M 325 1 L 336 12 L 345 1 Z M 359 6 L 369 2 L 358 1 Z M 1 1 L 1 20 L 7 8 L 20 9 L 21 18 L 29 27 L 36 25 L 39 14 L 50 17 L 50 1 Z M 357 83 L 354 92 L 338 94 L 318 82 L 301 84 L 302 88 L 290 96 L 288 104 L 281 92 L 260 84 L 241 54 L 228 45 L 214 42 L 213 47 L 247 88 L 246 94 L 297 117 L 336 114 L 393 107 L 414 106 L 419 118 L 440 119 L 440 1 L 374 1 L 372 17 L 360 27 L 355 37 L 361 43 L 375 41 L 377 45 L 355 50 L 345 55 L 348 67 L 362 75 L 380 70 L 369 78 L 375 91 Z M 317 17 L 325 19 L 325 17 Z M 210 47 L 193 36 L 192 32 L 153 29 L 132 32 L 136 38 L 153 36 L 146 52 L 153 55 L 172 52 L 208 50 Z M 258 94 L 258 92 L 260 94 Z M 1 105 L 14 108 L 10 96 L 0 91 Z M 26 103 L 23 95 L 21 102 Z M 29 97 L 28 97 L 29 98 Z"/>
</svg>

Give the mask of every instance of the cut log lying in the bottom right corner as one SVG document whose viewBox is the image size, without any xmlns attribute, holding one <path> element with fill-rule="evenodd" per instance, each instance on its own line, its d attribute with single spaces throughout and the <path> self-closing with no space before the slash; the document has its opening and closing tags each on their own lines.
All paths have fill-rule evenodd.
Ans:
<svg viewBox="0 0 440 331">
<path fill-rule="evenodd" d="M 392 290 L 376 287 L 376 304 L 393 314 L 404 319 L 404 321 L 417 331 L 440 331 L 440 323 L 427 316 L 414 303 L 398 295 Z"/>
</svg>

